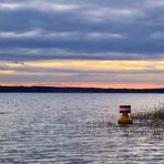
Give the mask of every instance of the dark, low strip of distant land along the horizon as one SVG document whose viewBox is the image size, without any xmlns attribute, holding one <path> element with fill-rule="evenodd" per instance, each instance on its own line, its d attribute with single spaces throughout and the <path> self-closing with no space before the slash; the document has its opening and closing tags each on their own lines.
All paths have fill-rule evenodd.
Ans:
<svg viewBox="0 0 164 164">
<path fill-rule="evenodd" d="M 164 93 L 164 89 L 0 86 L 0 93 Z"/>
</svg>

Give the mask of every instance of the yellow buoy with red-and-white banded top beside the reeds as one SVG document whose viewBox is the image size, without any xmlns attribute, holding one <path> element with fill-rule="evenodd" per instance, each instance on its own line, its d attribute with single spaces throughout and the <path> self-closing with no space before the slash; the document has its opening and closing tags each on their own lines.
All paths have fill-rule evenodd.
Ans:
<svg viewBox="0 0 164 164">
<path fill-rule="evenodd" d="M 132 124 L 132 117 L 129 113 L 131 113 L 131 105 L 120 105 L 120 113 L 122 115 L 117 120 L 119 124 Z"/>
</svg>

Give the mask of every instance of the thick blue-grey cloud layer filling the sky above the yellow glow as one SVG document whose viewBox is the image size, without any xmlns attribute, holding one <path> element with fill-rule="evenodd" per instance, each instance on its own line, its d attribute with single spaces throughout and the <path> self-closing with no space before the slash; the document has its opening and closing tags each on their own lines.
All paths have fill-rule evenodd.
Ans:
<svg viewBox="0 0 164 164">
<path fill-rule="evenodd" d="M 0 60 L 164 58 L 162 0 L 2 0 Z"/>
</svg>

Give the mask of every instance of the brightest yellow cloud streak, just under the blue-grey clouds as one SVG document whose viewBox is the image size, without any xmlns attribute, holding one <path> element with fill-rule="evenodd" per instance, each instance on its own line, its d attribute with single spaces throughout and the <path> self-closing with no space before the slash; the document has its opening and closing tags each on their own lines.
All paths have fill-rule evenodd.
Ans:
<svg viewBox="0 0 164 164">
<path fill-rule="evenodd" d="M 32 68 L 53 68 L 53 69 L 79 69 L 79 70 L 164 70 L 164 61 L 96 61 L 96 60 L 55 60 L 27 62 Z"/>
</svg>

